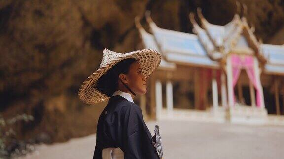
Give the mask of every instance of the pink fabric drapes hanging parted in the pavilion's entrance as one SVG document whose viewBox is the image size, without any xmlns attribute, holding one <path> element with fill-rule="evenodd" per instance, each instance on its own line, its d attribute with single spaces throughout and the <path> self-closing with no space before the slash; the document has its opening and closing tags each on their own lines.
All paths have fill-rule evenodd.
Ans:
<svg viewBox="0 0 284 159">
<path fill-rule="evenodd" d="M 234 88 L 237 84 L 237 81 L 240 77 L 241 69 L 245 69 L 250 82 L 253 84 L 254 88 L 256 89 L 256 106 L 261 106 L 261 93 L 257 81 L 256 81 L 256 75 L 254 70 L 254 62 L 252 56 L 238 56 L 238 55 L 232 55 L 231 56 L 232 61 L 232 71 L 233 71 L 233 96 L 234 96 L 234 103 L 235 103 L 235 93 Z"/>
</svg>

